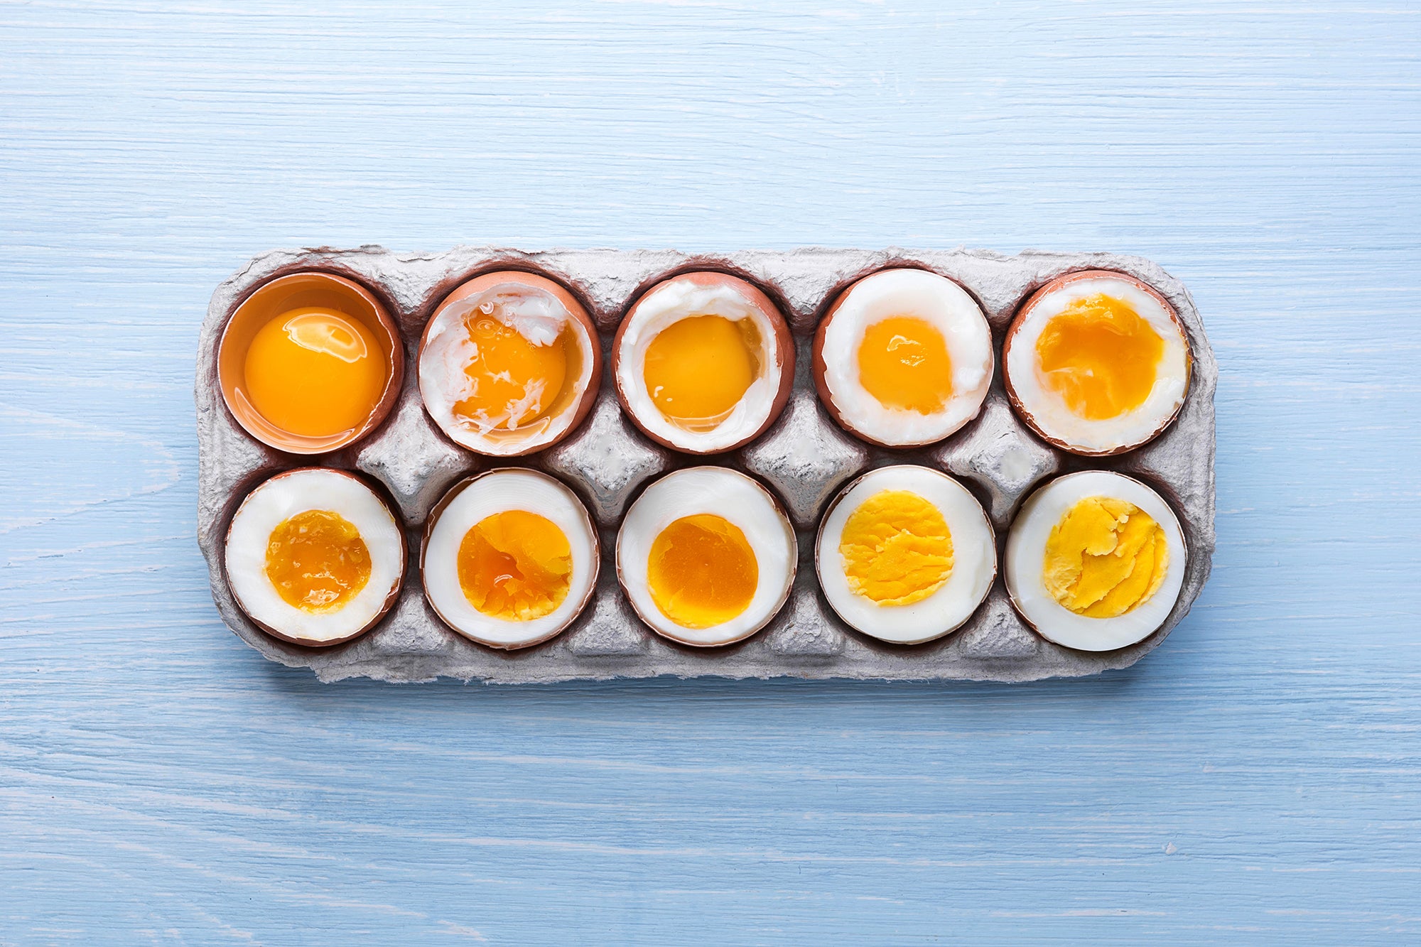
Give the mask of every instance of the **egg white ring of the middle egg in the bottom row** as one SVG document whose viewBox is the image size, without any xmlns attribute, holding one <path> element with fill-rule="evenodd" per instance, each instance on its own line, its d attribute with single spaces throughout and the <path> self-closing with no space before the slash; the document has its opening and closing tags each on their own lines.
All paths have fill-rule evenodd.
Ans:
<svg viewBox="0 0 1421 947">
<path fill-rule="evenodd" d="M 759 567 L 759 583 L 745 611 L 709 628 L 672 621 L 657 607 L 647 583 L 657 536 L 682 516 L 698 513 L 739 526 Z M 796 550 L 789 519 L 763 486 L 723 466 L 693 466 L 661 478 L 627 510 L 617 533 L 617 574 L 637 614 L 658 634 L 685 644 L 730 644 L 759 631 L 784 604 L 794 580 Z"/>
</svg>

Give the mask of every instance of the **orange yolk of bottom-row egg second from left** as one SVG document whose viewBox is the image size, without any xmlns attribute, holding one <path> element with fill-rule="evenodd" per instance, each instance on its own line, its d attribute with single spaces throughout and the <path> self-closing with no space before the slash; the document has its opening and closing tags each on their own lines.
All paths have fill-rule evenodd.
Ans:
<svg viewBox="0 0 1421 947">
<path fill-rule="evenodd" d="M 509 621 L 551 614 L 567 597 L 573 547 L 557 523 L 510 509 L 473 525 L 459 543 L 459 586 L 469 604 Z"/>
</svg>

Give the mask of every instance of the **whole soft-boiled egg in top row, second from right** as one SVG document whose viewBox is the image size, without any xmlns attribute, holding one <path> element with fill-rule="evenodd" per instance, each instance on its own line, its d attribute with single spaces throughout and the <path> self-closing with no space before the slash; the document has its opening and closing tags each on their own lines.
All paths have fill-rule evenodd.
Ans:
<svg viewBox="0 0 1421 947">
<path fill-rule="evenodd" d="M 971 294 L 894 269 L 844 290 L 814 333 L 814 387 L 850 434 L 882 446 L 941 441 L 975 418 L 992 384 L 992 330 Z"/>
</svg>

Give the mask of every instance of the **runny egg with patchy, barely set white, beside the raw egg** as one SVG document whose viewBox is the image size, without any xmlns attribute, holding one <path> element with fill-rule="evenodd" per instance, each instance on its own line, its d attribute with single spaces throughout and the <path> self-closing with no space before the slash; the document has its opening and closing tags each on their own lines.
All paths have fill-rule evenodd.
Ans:
<svg viewBox="0 0 1421 947">
<path fill-rule="evenodd" d="M 455 444 L 519 456 L 567 437 L 593 407 L 601 348 L 591 317 L 543 276 L 485 273 L 439 304 L 419 341 L 419 394 Z"/>
</svg>

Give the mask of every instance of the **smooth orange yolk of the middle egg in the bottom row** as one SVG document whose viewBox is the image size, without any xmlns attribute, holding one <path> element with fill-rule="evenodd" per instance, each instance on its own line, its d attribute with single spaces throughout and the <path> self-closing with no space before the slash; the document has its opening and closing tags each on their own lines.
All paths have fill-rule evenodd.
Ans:
<svg viewBox="0 0 1421 947">
<path fill-rule="evenodd" d="M 709 628 L 736 617 L 749 607 L 759 582 L 755 550 L 740 528 L 722 516 L 682 516 L 651 543 L 651 599 L 684 628 Z"/>
</svg>

